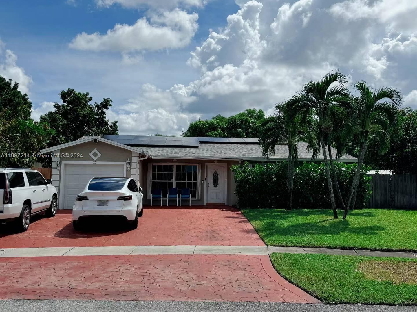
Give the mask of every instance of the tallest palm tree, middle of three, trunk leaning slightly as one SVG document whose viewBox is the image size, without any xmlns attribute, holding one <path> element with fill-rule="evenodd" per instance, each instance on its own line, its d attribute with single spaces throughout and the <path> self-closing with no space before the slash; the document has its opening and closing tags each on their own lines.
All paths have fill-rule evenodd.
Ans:
<svg viewBox="0 0 417 312">
<path fill-rule="evenodd" d="M 317 158 L 320 149 L 326 163 L 327 186 L 329 188 L 330 203 L 334 218 L 337 219 L 336 201 L 334 198 L 332 177 L 326 146 L 332 134 L 335 119 L 347 119 L 347 109 L 350 105 L 350 94 L 346 89 L 347 77 L 339 71 L 332 71 L 324 75 L 319 81 L 306 83 L 299 94 L 292 96 L 285 105 L 285 111 L 290 120 L 300 118 L 304 124 L 312 118 L 310 126 L 315 138 L 309 142 L 313 150 L 313 158 Z M 312 136 L 312 134 L 310 134 Z"/>
</svg>

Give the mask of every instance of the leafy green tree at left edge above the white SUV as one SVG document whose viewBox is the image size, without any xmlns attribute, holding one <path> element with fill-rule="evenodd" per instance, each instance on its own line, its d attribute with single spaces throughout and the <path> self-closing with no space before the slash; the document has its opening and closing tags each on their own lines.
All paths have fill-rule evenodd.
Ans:
<svg viewBox="0 0 417 312">
<path fill-rule="evenodd" d="M 38 154 L 55 134 L 47 123 L 30 119 L 32 102 L 18 87 L 0 76 L 0 167 L 31 167 L 36 161 L 33 153 Z"/>
</svg>

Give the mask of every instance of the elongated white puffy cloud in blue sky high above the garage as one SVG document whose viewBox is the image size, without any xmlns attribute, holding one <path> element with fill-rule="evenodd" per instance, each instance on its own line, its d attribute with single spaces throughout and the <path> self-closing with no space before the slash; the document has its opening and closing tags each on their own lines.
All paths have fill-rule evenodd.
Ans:
<svg viewBox="0 0 417 312">
<path fill-rule="evenodd" d="M 198 14 L 178 8 L 152 12 L 133 25 L 116 24 L 106 34 L 78 34 L 70 43 L 77 50 L 139 51 L 186 47 L 198 29 Z"/>
</svg>

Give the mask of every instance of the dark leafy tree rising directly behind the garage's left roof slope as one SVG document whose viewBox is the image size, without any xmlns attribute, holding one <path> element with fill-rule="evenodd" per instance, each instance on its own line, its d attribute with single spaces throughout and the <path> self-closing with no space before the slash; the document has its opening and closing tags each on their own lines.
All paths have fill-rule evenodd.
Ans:
<svg viewBox="0 0 417 312">
<path fill-rule="evenodd" d="M 63 104 L 55 102 L 54 111 L 40 116 L 40 121 L 48 122 L 57 131 L 49 146 L 55 146 L 80 139 L 82 136 L 118 134 L 117 121 L 106 118 L 106 110 L 112 104 L 109 98 L 94 102 L 89 93 L 67 89 L 60 92 Z"/>
</svg>

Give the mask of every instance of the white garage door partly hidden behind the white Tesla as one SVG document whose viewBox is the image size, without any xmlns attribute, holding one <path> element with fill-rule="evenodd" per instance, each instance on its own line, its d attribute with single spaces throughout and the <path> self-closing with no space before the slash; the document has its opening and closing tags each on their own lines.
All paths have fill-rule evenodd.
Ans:
<svg viewBox="0 0 417 312">
<path fill-rule="evenodd" d="M 123 164 L 65 164 L 63 192 L 63 207 L 72 209 L 77 194 L 81 193 L 88 181 L 95 176 L 123 176 Z M 62 194 L 62 193 L 61 193 Z"/>
</svg>

